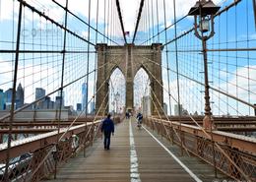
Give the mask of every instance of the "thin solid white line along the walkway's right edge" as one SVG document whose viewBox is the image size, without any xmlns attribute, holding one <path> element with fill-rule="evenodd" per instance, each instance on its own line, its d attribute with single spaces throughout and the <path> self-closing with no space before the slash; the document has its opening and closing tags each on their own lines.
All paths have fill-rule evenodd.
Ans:
<svg viewBox="0 0 256 182">
<path fill-rule="evenodd" d="M 180 161 L 178 159 L 177 156 L 175 156 L 175 154 L 173 154 L 172 152 L 170 152 L 163 144 L 160 143 L 160 141 L 149 131 L 147 130 L 144 126 L 143 129 L 146 130 L 152 137 L 153 139 L 155 139 L 155 141 L 157 141 L 160 146 L 166 151 L 168 152 L 172 158 L 174 158 L 174 160 L 176 160 L 176 162 L 178 162 L 178 164 L 197 182 L 203 182 L 201 179 L 199 179 L 182 161 Z"/>
</svg>

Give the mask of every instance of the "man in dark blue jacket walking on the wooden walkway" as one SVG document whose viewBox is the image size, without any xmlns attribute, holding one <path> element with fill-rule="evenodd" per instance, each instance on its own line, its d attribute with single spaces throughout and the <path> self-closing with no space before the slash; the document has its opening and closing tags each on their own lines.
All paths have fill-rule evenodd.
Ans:
<svg viewBox="0 0 256 182">
<path fill-rule="evenodd" d="M 111 120 L 110 113 L 102 122 L 101 132 L 104 132 L 104 149 L 109 150 L 111 133 L 114 135 L 114 122 Z"/>
</svg>

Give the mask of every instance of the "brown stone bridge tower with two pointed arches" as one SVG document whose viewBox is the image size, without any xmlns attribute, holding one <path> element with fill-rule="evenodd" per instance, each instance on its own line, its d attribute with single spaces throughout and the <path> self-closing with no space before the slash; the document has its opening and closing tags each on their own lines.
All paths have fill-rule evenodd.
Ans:
<svg viewBox="0 0 256 182">
<path fill-rule="evenodd" d="M 126 82 L 126 108 L 133 108 L 133 80 L 136 73 L 143 68 L 149 75 L 151 82 L 151 96 L 158 108 L 163 106 L 162 78 L 161 78 L 161 44 L 124 46 L 107 46 L 100 43 L 96 45 L 97 52 L 97 80 L 96 80 L 96 111 L 99 115 L 104 114 L 108 100 L 108 82 L 112 72 L 119 68 Z M 160 83 L 160 84 L 159 84 Z M 153 93 L 155 92 L 155 94 Z M 105 100 L 104 96 L 107 94 Z M 104 100 L 104 101 L 103 101 Z M 159 101 L 158 101 L 159 100 Z M 159 103 L 160 102 L 160 103 Z M 155 105 L 151 104 L 152 114 L 158 115 Z M 162 110 L 160 109 L 160 114 Z"/>
</svg>

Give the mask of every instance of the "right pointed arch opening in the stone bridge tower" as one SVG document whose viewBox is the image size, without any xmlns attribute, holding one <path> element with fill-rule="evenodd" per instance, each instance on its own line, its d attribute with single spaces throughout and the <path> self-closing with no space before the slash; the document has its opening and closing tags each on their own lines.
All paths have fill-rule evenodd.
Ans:
<svg viewBox="0 0 256 182">
<path fill-rule="evenodd" d="M 134 80 L 134 109 L 143 112 L 145 115 L 151 114 L 151 89 L 150 77 L 146 70 L 141 67 L 136 73 Z"/>
</svg>

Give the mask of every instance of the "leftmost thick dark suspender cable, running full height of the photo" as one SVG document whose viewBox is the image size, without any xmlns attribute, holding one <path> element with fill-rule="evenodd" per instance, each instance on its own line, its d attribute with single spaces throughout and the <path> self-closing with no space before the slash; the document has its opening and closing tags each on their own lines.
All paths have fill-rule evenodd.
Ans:
<svg viewBox="0 0 256 182">
<path fill-rule="evenodd" d="M 22 15 L 23 15 L 22 2 L 23 1 L 20 1 L 20 8 L 19 8 L 19 19 L 18 19 L 18 30 L 17 30 L 16 52 L 15 52 L 15 69 L 14 69 L 13 91 L 12 91 L 12 105 L 11 105 L 11 111 L 10 111 L 10 123 L 9 123 L 9 131 L 8 131 L 8 144 L 7 144 L 7 152 L 6 152 L 4 181 L 9 181 L 10 148 L 11 148 L 11 142 L 12 142 L 12 129 L 13 129 L 13 119 L 14 119 L 14 110 L 15 110 L 15 100 L 16 100 L 16 84 L 17 84 L 17 75 L 18 75 L 20 37 L 21 37 L 21 28 L 22 28 Z"/>
</svg>

